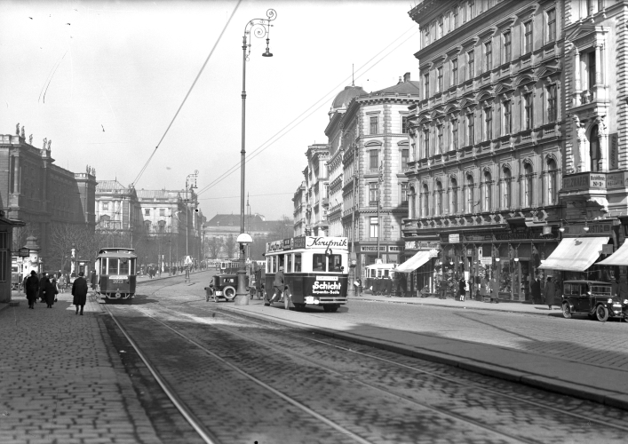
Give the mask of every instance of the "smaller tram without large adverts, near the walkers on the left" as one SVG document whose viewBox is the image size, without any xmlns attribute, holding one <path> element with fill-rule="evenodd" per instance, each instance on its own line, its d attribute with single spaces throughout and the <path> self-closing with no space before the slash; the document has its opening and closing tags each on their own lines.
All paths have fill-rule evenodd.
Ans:
<svg viewBox="0 0 628 444">
<path fill-rule="evenodd" d="M 137 281 L 135 250 L 125 248 L 105 248 L 99 250 L 96 258 L 96 291 L 100 297 L 123 299 L 131 302 L 135 296 Z"/>
</svg>

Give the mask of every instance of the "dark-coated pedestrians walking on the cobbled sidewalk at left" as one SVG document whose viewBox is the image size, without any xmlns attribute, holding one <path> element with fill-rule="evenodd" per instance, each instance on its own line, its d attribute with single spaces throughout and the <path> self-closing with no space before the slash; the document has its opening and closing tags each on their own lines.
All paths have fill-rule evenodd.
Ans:
<svg viewBox="0 0 628 444">
<path fill-rule="evenodd" d="M 60 274 L 62 279 L 63 274 Z M 35 309 L 35 304 L 39 298 L 42 303 L 45 302 L 46 308 L 52 308 L 52 305 L 57 302 L 57 295 L 59 294 L 60 283 L 56 279 L 56 275 L 52 276 L 52 279 L 47 273 L 43 273 L 42 277 L 37 277 L 36 271 L 32 270 L 28 277 L 24 280 L 24 292 L 28 299 L 28 308 Z M 87 281 L 85 281 L 83 272 L 78 274 L 78 277 L 72 284 L 72 304 L 76 305 L 76 314 L 83 314 L 83 306 L 87 302 Z"/>
</svg>

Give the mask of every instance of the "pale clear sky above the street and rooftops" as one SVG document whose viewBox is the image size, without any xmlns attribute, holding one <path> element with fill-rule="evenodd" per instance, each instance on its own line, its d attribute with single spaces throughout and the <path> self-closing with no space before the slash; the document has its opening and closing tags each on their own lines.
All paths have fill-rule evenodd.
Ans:
<svg viewBox="0 0 628 444">
<path fill-rule="evenodd" d="M 414 4 L 0 0 L 0 133 L 20 123 L 60 167 L 137 189 L 183 189 L 197 170 L 203 214 L 239 214 L 242 36 L 273 8 L 273 57 L 251 36 L 246 62 L 245 187 L 252 214 L 291 218 L 352 65 L 365 91 L 418 80 Z"/>
</svg>

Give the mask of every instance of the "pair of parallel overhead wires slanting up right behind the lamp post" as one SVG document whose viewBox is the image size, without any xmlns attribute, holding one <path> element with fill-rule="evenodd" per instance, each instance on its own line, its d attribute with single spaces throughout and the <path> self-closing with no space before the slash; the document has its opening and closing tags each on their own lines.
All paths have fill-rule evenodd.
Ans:
<svg viewBox="0 0 628 444">
<path fill-rule="evenodd" d="M 366 63 L 364 63 L 362 65 L 362 67 L 359 67 L 357 69 L 356 72 L 361 71 L 364 67 L 366 67 L 373 59 L 376 59 L 382 52 L 385 52 L 386 49 L 388 49 L 390 46 L 392 46 L 394 43 L 396 43 L 399 39 L 401 39 L 401 37 L 405 36 L 406 34 L 408 34 L 408 32 L 410 30 L 412 30 L 414 27 L 409 28 L 408 30 L 406 30 L 405 32 L 403 32 L 401 34 L 401 36 L 398 36 L 397 38 L 395 38 L 393 40 L 393 42 L 391 42 L 390 44 L 386 45 L 386 47 L 381 50 L 380 52 L 378 52 L 377 54 L 375 54 L 373 57 L 371 57 Z M 366 74 L 367 72 L 369 72 L 369 70 L 372 67 L 376 67 L 378 65 L 379 62 L 381 62 L 383 59 L 386 59 L 386 57 L 391 54 L 394 50 L 396 50 L 399 46 L 401 46 L 401 44 L 406 43 L 410 37 L 415 36 L 417 34 L 418 31 L 412 33 L 412 35 L 408 36 L 405 40 L 403 40 L 400 44 L 397 44 L 397 46 L 395 46 L 392 50 L 390 50 L 389 52 L 386 52 L 386 54 L 384 55 L 384 57 L 382 57 L 381 59 L 379 59 L 377 62 L 375 62 L 373 65 L 371 65 L 368 69 L 366 69 L 364 72 L 362 72 L 360 75 L 357 76 L 357 78 L 360 78 L 362 75 Z M 321 109 L 321 107 L 323 105 L 325 105 L 327 98 L 335 93 L 338 92 L 338 88 L 343 86 L 344 83 L 350 79 L 351 76 L 346 77 L 346 79 L 342 82 L 339 83 L 338 86 L 335 86 L 333 90 L 331 90 L 330 92 L 326 93 L 325 95 L 322 96 L 321 99 L 318 99 L 314 102 L 313 105 L 311 105 L 310 107 L 308 107 L 303 113 L 301 113 L 300 115 L 298 115 L 297 117 L 295 117 L 290 123 L 288 123 L 287 125 L 285 125 L 280 131 L 277 131 L 274 133 L 274 135 L 270 138 L 267 139 L 266 142 L 264 142 L 263 144 L 261 144 L 259 147 L 257 147 L 255 150 L 251 151 L 250 155 L 247 156 L 247 159 L 245 161 L 245 163 L 249 163 L 250 160 L 254 159 L 256 156 L 258 156 L 259 154 L 261 154 L 264 150 L 266 150 L 266 148 L 271 147 L 275 142 L 277 142 L 279 139 L 282 139 L 283 136 L 287 135 L 290 131 L 294 130 L 300 123 L 303 123 L 307 117 L 309 117 L 310 115 L 313 115 L 314 112 L 318 111 L 319 109 Z M 322 102 L 321 105 L 316 106 L 319 102 Z M 315 108 L 314 108 L 315 107 Z M 314 108 L 314 109 L 313 109 Z M 307 114 L 307 115 L 306 115 Z M 292 126 L 290 128 L 290 125 L 292 125 L 293 123 L 297 122 L 298 119 L 300 119 L 303 115 L 306 115 L 305 118 L 301 119 L 298 123 L 296 123 L 294 126 Z M 288 129 L 288 131 L 285 131 L 286 129 Z M 282 131 L 283 132 L 282 134 Z M 280 135 L 281 134 L 281 135 Z M 276 139 L 275 139 L 276 138 Z M 265 147 L 266 146 L 266 147 Z M 211 181 L 210 184 L 208 184 L 207 186 L 204 186 L 196 195 L 200 195 L 203 194 L 204 192 L 208 191 L 211 187 L 218 185 L 220 182 L 222 182 L 224 179 L 226 179 L 227 177 L 229 177 L 231 174 L 233 174 L 236 170 L 238 170 L 240 168 L 240 163 L 236 163 L 234 166 L 232 166 L 231 168 L 229 168 L 227 171 L 225 171 L 224 173 L 222 173 L 218 178 L 215 178 L 213 181 Z"/>
</svg>

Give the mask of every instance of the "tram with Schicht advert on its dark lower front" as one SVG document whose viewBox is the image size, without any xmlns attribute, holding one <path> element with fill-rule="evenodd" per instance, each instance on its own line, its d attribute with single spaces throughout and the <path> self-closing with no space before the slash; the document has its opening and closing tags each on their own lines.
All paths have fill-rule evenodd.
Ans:
<svg viewBox="0 0 628 444">
<path fill-rule="evenodd" d="M 336 312 L 346 305 L 349 250 L 346 237 L 298 236 L 266 243 L 266 298 L 273 297 L 274 275 L 283 267 L 286 308 L 321 305 Z"/>
</svg>

